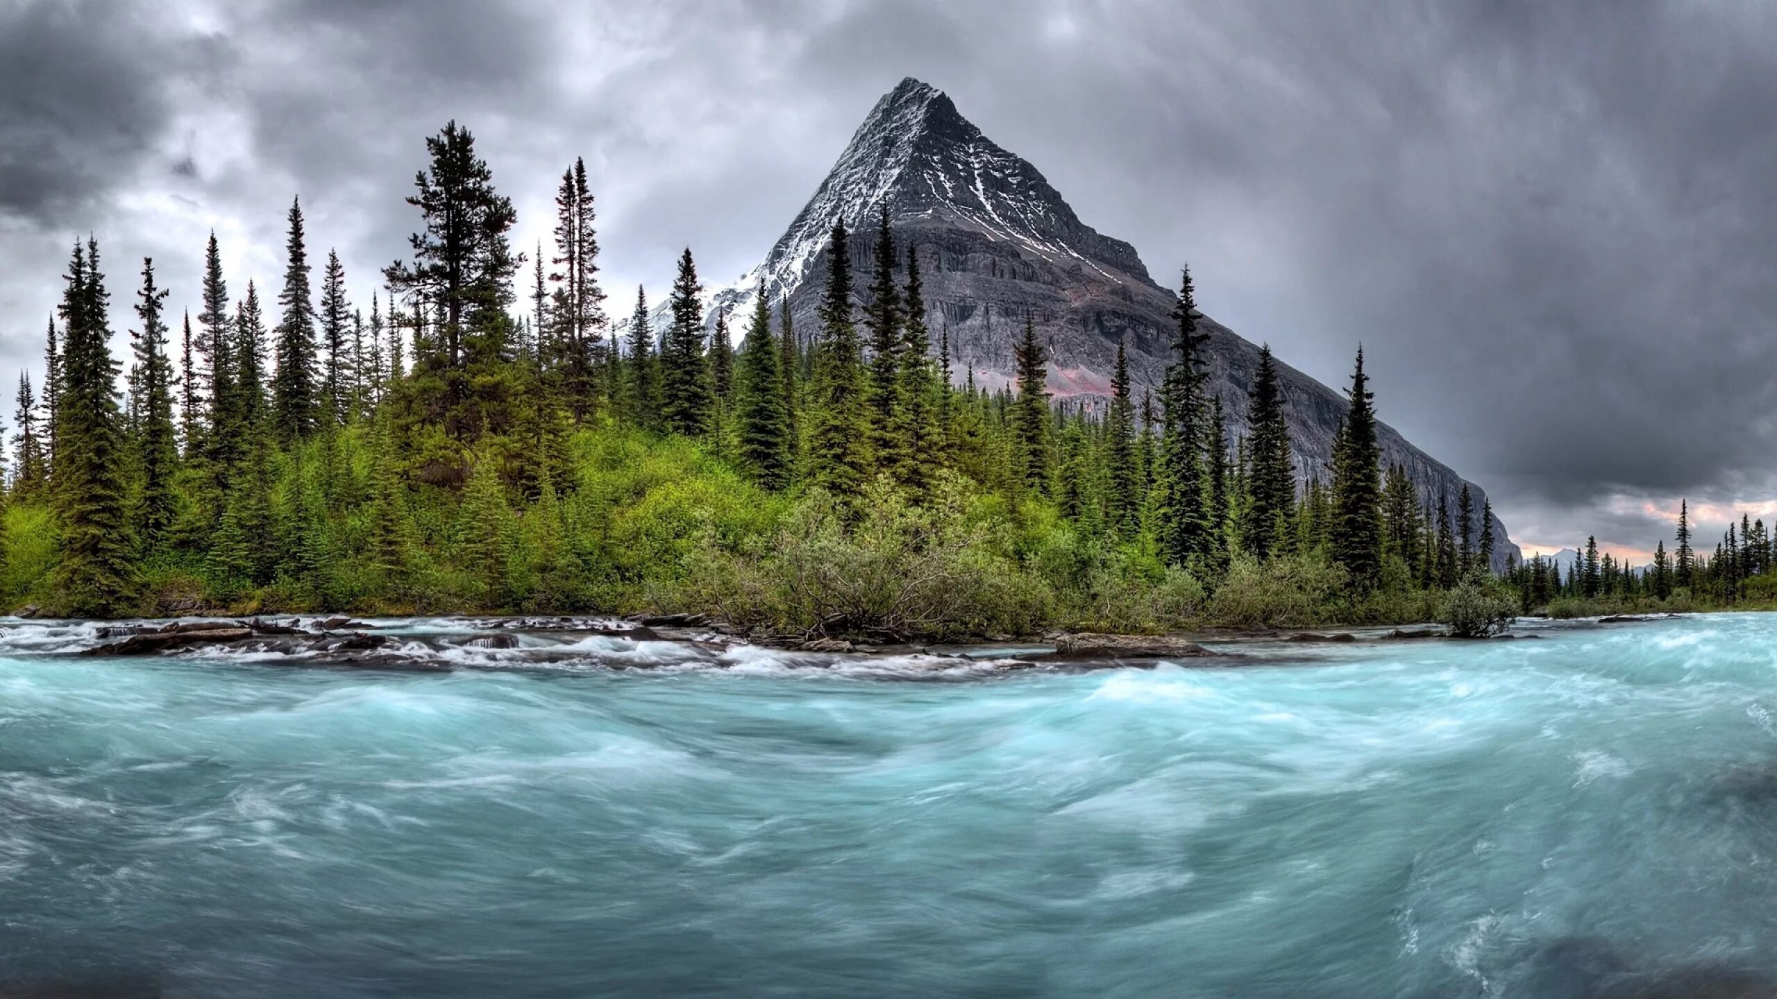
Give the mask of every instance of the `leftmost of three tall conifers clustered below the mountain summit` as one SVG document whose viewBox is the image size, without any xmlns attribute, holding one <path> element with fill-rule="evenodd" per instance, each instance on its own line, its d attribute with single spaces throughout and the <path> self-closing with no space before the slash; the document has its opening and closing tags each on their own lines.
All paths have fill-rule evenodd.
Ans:
<svg viewBox="0 0 1777 999">
<path fill-rule="evenodd" d="M 844 222 L 833 222 L 807 420 L 809 480 L 835 496 L 853 498 L 869 468 L 869 416 L 858 331 L 851 320 L 851 251 L 846 244 Z"/>
</svg>

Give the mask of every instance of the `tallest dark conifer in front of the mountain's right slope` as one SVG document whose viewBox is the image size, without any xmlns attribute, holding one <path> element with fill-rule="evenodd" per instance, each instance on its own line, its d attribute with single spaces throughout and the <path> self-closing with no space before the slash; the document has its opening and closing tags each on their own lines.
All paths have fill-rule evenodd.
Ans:
<svg viewBox="0 0 1777 999">
<path fill-rule="evenodd" d="M 1178 304 L 1173 308 L 1176 356 L 1166 368 L 1160 393 L 1166 428 L 1160 437 L 1160 544 L 1175 565 L 1208 549 L 1208 515 L 1203 491 L 1203 430 L 1199 350 L 1208 340 L 1198 332 L 1198 302 L 1191 268 L 1183 270 Z"/>
</svg>

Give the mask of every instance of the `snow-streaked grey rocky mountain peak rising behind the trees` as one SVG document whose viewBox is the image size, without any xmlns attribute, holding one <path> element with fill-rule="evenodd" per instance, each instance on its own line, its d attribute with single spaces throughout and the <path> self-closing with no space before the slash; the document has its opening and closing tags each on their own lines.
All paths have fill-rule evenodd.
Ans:
<svg viewBox="0 0 1777 999">
<path fill-rule="evenodd" d="M 766 260 L 711 297 L 716 315 L 748 315 L 757 288 L 787 300 L 796 329 L 812 334 L 826 274 L 833 220 L 857 233 L 853 265 L 865 293 L 878 206 L 887 201 L 901 252 L 919 254 L 933 341 L 947 334 L 956 379 L 1009 384 L 1013 343 L 1025 316 L 1050 354 L 1048 388 L 1082 405 L 1102 405 L 1111 391 L 1116 347 L 1128 350 L 1137 395 L 1157 388 L 1167 363 L 1176 297 L 1150 277 L 1136 249 L 1080 222 L 1061 194 L 1025 160 L 970 124 L 942 91 L 903 80 L 858 126 L 832 172 L 789 224 Z M 665 316 L 659 316 L 665 318 Z M 1208 386 L 1228 412 L 1231 436 L 1246 434 L 1246 396 L 1258 348 L 1203 316 L 1208 331 Z M 1279 359 L 1299 480 L 1331 476 L 1333 436 L 1345 396 Z M 1383 460 L 1400 464 L 1436 501 L 1455 507 L 1462 478 L 1381 427 Z M 1470 485 L 1475 505 L 1484 492 Z M 1496 567 L 1516 555 L 1494 519 Z"/>
</svg>

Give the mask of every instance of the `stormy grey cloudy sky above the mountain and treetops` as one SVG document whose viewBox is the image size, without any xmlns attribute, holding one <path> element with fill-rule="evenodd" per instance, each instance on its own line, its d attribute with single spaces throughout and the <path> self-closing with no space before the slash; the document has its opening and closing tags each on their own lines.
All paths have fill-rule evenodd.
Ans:
<svg viewBox="0 0 1777 999">
<path fill-rule="evenodd" d="M 732 281 L 903 76 L 1151 274 L 1482 484 L 1526 549 L 1777 515 L 1777 5 L 1754 0 L 0 0 L 0 384 L 71 242 L 117 329 L 311 258 L 368 304 L 457 119 L 547 236 L 585 156 L 611 311 Z M 9 409 L 9 407 L 5 407 Z"/>
</svg>

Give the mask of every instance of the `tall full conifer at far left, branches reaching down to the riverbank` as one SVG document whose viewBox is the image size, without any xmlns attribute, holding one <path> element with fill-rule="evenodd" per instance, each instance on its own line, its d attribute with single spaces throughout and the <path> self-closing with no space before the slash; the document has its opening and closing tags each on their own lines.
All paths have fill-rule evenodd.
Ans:
<svg viewBox="0 0 1777 999">
<path fill-rule="evenodd" d="M 55 496 L 60 563 L 55 587 L 73 617 L 116 617 L 135 599 L 133 531 L 123 482 L 117 363 L 100 247 L 75 244 L 62 295 L 62 395 L 57 409 Z"/>
</svg>

